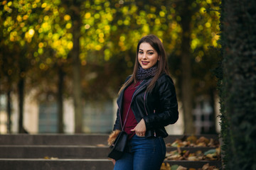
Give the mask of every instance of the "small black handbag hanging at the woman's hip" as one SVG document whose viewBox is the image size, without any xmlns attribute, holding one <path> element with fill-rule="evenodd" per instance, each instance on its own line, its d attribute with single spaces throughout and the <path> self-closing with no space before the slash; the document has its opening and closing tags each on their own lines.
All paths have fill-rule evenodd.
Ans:
<svg viewBox="0 0 256 170">
<path fill-rule="evenodd" d="M 114 140 L 113 145 L 110 146 L 110 153 L 107 157 L 110 157 L 114 160 L 120 159 L 124 154 L 124 148 L 127 144 L 127 139 L 127 132 L 124 132 L 124 130 L 122 130 L 122 132 L 119 132 L 117 139 Z"/>
</svg>

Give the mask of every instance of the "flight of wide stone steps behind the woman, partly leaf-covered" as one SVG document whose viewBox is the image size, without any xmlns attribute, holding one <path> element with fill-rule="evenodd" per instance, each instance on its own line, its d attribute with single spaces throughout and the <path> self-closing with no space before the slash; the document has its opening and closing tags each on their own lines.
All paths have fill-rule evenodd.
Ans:
<svg viewBox="0 0 256 170">
<path fill-rule="evenodd" d="M 108 170 L 113 164 L 107 158 L 108 135 L 0 135 L 0 169 L 3 170 Z M 182 135 L 170 135 L 165 138 L 166 143 L 181 139 Z M 211 136 L 212 137 L 212 136 Z M 213 136 L 217 137 L 217 136 Z M 167 151 L 176 149 L 167 147 Z M 182 148 L 191 152 L 197 149 Z M 209 163 L 220 167 L 219 161 L 170 161 L 166 163 L 179 164 L 189 168 L 201 168 Z"/>
</svg>

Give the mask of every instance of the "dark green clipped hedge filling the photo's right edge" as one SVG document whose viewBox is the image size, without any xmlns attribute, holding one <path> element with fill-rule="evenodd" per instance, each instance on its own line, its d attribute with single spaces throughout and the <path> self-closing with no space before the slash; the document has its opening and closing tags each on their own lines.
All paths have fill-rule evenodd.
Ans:
<svg viewBox="0 0 256 170">
<path fill-rule="evenodd" d="M 223 1 L 221 127 L 225 169 L 256 169 L 255 1 Z"/>
</svg>

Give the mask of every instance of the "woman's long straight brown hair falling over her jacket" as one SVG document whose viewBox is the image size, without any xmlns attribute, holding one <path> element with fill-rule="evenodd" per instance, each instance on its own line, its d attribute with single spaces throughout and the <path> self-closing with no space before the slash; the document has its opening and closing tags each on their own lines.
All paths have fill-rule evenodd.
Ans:
<svg viewBox="0 0 256 170">
<path fill-rule="evenodd" d="M 166 57 L 166 52 L 164 50 L 163 43 L 161 42 L 161 40 L 159 40 L 158 37 L 156 37 L 156 35 L 146 35 L 142 39 L 140 39 L 138 42 L 136 59 L 135 59 L 132 77 L 130 77 L 122 85 L 118 94 L 120 94 L 123 89 L 125 89 L 127 86 L 129 86 L 129 84 L 132 84 L 132 82 L 134 82 L 134 84 L 137 82 L 136 77 L 137 77 L 137 71 L 138 71 L 138 67 L 139 67 L 139 61 L 138 61 L 139 45 L 141 45 L 143 42 L 149 43 L 149 45 L 151 45 L 151 47 L 153 47 L 154 50 L 156 50 L 157 54 L 159 55 L 159 61 L 156 62 L 157 72 L 154 75 L 154 78 L 151 80 L 149 86 L 147 86 L 146 90 L 149 92 L 152 91 L 152 89 L 154 88 L 154 85 L 156 84 L 156 80 L 159 79 L 161 74 L 165 73 L 165 74 L 169 75 L 167 57 Z"/>
</svg>

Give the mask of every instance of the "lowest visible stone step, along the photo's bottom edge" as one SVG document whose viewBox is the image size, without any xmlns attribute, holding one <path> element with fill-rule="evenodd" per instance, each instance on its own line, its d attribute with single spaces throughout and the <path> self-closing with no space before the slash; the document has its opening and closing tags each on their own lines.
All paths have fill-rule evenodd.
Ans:
<svg viewBox="0 0 256 170">
<path fill-rule="evenodd" d="M 170 165 L 178 164 L 184 167 L 198 169 L 204 164 L 216 166 L 220 169 L 220 162 L 188 162 L 188 161 L 165 161 Z M 112 170 L 113 164 L 110 159 L 0 159 L 0 167 L 4 170 Z"/>
</svg>

